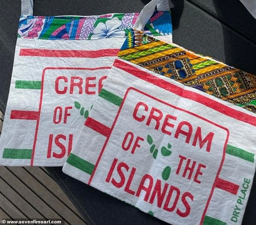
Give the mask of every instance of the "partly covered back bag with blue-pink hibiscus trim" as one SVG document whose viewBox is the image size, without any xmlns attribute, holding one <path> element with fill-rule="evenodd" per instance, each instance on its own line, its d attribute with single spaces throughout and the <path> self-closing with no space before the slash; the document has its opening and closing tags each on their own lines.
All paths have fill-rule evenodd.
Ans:
<svg viewBox="0 0 256 225">
<path fill-rule="evenodd" d="M 0 165 L 62 166 L 128 29 L 141 17 L 148 33 L 171 40 L 170 11 L 154 12 L 169 9 L 153 0 L 140 15 L 42 17 L 32 3 L 22 1 Z"/>
</svg>

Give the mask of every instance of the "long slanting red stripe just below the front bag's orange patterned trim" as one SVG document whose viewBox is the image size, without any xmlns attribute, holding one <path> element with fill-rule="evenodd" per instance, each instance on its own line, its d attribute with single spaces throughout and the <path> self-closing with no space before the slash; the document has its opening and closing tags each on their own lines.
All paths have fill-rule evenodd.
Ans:
<svg viewBox="0 0 256 225">
<path fill-rule="evenodd" d="M 167 91 L 170 91 L 176 95 L 179 95 L 180 97 L 199 102 L 199 103 L 206 105 L 207 107 L 212 108 L 226 116 L 230 116 L 231 118 L 234 118 L 236 120 L 240 120 L 242 122 L 246 122 L 248 124 L 256 126 L 256 117 L 255 116 L 251 116 L 249 114 L 246 114 L 246 113 L 243 113 L 236 109 L 233 109 L 229 106 L 223 105 L 222 103 L 215 101 L 213 99 L 210 99 L 204 95 L 200 95 L 199 93 L 184 90 L 181 87 L 178 87 L 172 83 L 169 83 L 168 81 L 165 81 L 160 77 L 153 76 L 147 72 L 139 70 L 138 68 L 131 66 L 130 64 L 123 62 L 121 60 L 116 59 L 113 66 L 115 66 L 121 70 L 124 70 L 124 71 L 128 72 L 129 74 L 132 74 L 133 76 L 136 76 L 136 77 L 138 77 L 144 81 L 147 81 L 153 85 L 156 85 L 156 86 L 166 89 Z"/>
</svg>

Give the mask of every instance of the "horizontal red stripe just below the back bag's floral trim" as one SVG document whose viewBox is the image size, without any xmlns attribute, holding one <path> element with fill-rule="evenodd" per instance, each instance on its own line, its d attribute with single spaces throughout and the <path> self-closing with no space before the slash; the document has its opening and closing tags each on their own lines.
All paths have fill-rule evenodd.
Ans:
<svg viewBox="0 0 256 225">
<path fill-rule="evenodd" d="M 63 58 L 99 58 L 105 56 L 117 56 L 119 49 L 103 50 L 50 50 L 22 48 L 20 56 L 40 56 L 40 57 L 63 57 Z"/>
</svg>

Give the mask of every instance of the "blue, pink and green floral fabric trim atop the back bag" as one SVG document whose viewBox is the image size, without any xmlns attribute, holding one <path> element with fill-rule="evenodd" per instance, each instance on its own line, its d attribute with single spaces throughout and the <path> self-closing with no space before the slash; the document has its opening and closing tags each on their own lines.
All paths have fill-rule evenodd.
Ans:
<svg viewBox="0 0 256 225">
<path fill-rule="evenodd" d="M 138 13 L 106 14 L 92 17 L 21 16 L 19 38 L 93 40 L 126 37 Z M 149 35 L 171 35 L 170 11 L 156 11 L 145 26 Z"/>
</svg>

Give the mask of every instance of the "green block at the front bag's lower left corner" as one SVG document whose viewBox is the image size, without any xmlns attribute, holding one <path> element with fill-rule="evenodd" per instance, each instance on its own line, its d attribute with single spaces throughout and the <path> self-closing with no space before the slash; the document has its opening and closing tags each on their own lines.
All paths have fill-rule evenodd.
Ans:
<svg viewBox="0 0 256 225">
<path fill-rule="evenodd" d="M 94 165 L 72 153 L 70 153 L 69 157 L 67 158 L 67 163 L 84 171 L 85 173 L 88 173 L 89 175 L 92 175 Z"/>
</svg>

